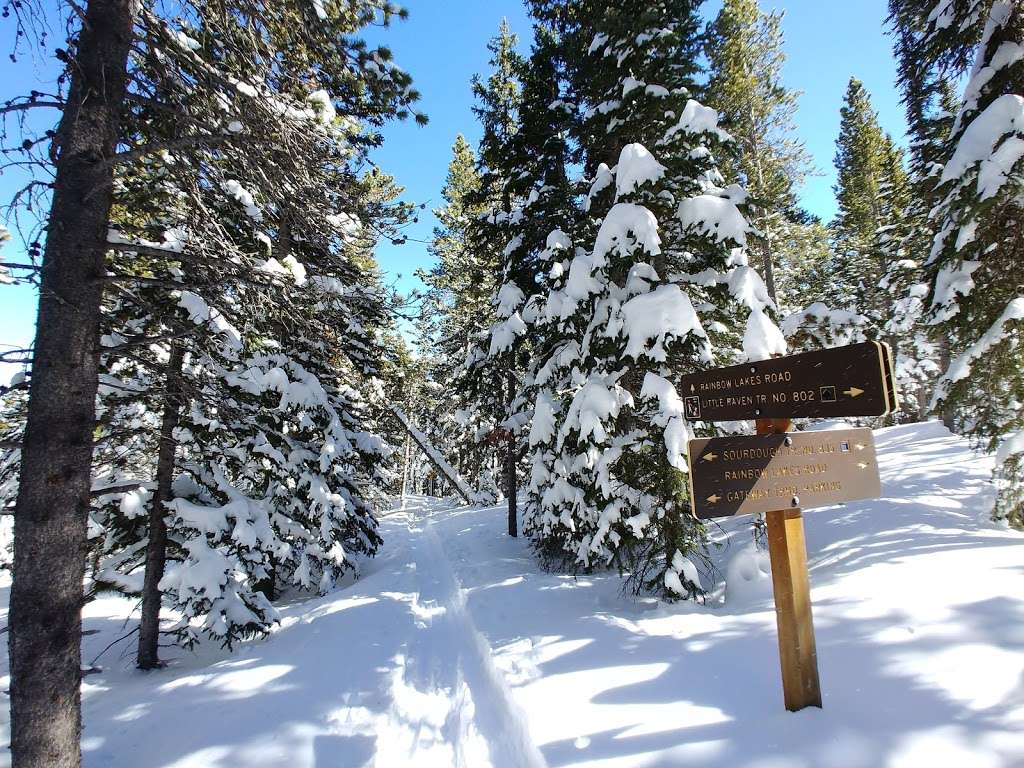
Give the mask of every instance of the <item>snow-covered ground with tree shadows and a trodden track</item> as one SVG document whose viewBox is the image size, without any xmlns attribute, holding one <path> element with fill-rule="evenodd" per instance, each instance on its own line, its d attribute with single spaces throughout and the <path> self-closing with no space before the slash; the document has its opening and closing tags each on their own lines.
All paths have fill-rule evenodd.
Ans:
<svg viewBox="0 0 1024 768">
<path fill-rule="evenodd" d="M 782 708 L 749 519 L 720 535 L 727 594 L 667 605 L 540 571 L 501 507 L 416 499 L 360 581 L 266 640 L 157 673 L 108 651 L 86 765 L 1024 766 L 1024 537 L 986 522 L 989 465 L 941 426 L 877 441 L 884 498 L 805 515 L 823 710 Z M 87 607 L 87 662 L 131 607 Z"/>
</svg>

